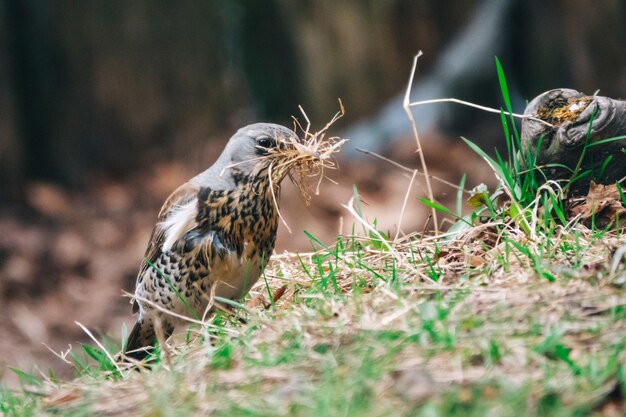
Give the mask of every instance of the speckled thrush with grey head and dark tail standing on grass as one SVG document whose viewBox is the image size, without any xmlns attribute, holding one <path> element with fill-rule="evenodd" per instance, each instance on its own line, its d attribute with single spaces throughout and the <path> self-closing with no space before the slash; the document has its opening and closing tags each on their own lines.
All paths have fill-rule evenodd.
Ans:
<svg viewBox="0 0 626 417">
<path fill-rule="evenodd" d="M 204 172 L 165 201 L 137 274 L 136 322 L 124 354 L 151 352 L 183 320 L 202 316 L 211 296 L 240 300 L 256 283 L 276 243 L 281 152 L 301 152 L 296 133 L 273 123 L 239 129 Z M 189 311 L 189 310 L 192 311 Z"/>
</svg>

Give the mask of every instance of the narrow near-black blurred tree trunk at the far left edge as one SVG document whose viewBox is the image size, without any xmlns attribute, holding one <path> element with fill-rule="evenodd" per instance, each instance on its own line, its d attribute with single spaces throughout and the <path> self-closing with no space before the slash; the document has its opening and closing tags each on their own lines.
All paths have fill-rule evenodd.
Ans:
<svg viewBox="0 0 626 417">
<path fill-rule="evenodd" d="M 67 82 L 62 45 L 55 30 L 59 16 L 52 3 L 35 0 L 6 0 L 5 9 L 13 114 L 24 173 L 62 179 L 67 160 L 58 146 L 63 138 L 57 133 Z"/>
</svg>

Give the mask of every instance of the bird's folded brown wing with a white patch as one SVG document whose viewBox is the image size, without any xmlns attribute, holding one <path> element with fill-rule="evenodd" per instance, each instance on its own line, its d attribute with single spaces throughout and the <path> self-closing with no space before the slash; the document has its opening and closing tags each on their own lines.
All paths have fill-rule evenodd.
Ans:
<svg viewBox="0 0 626 417">
<path fill-rule="evenodd" d="M 179 237 L 194 227 L 198 191 L 200 188 L 197 185 L 187 182 L 165 200 L 137 274 L 137 285 L 141 276 L 151 268 L 150 263 L 154 264 L 159 259 L 164 246 L 171 248 Z M 137 309 L 137 301 L 133 300 L 133 313 Z"/>
</svg>

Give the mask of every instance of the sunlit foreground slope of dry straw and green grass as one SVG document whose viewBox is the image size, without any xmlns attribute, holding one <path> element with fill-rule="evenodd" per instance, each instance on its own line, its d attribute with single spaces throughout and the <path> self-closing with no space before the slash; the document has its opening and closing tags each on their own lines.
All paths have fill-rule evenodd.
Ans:
<svg viewBox="0 0 626 417">
<path fill-rule="evenodd" d="M 240 309 L 245 323 L 218 314 L 176 335 L 141 372 L 97 354 L 88 370 L 67 356 L 80 377 L 33 384 L 23 376 L 35 396 L 15 410 L 623 415 L 624 268 L 608 265 L 626 238 L 587 232 L 568 234 L 580 258 L 553 264 L 555 282 L 480 230 L 447 242 L 413 235 L 391 250 L 375 238 L 346 238 L 283 254 Z M 507 252 L 518 259 L 505 262 Z"/>
</svg>

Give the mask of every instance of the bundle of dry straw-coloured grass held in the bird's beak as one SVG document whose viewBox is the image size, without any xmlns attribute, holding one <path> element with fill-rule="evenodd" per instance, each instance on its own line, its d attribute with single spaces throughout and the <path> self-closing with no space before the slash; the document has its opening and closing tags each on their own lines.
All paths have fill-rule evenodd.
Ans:
<svg viewBox="0 0 626 417">
<path fill-rule="evenodd" d="M 311 200 L 311 189 L 314 189 L 316 195 L 319 194 L 320 184 L 325 177 L 324 170 L 337 168 L 334 154 L 339 152 L 347 141 L 338 136 L 326 137 L 327 130 L 345 113 L 341 100 L 339 106 L 340 110 L 331 121 L 315 133 L 309 131 L 311 123 L 300 107 L 307 126 L 303 128 L 294 118 L 294 131 L 302 132 L 302 139 L 299 142 L 295 138 L 284 139 L 283 146 L 272 151 L 273 161 L 270 165 L 272 180 L 278 183 L 285 175 L 289 175 L 307 205 Z"/>
</svg>

